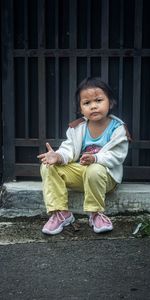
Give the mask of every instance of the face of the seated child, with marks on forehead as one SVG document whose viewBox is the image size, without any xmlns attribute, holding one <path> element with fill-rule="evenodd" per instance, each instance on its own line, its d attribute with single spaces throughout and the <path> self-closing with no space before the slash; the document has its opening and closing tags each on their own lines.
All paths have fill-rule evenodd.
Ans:
<svg viewBox="0 0 150 300">
<path fill-rule="evenodd" d="M 89 88 L 80 92 L 81 113 L 90 121 L 102 121 L 107 118 L 110 102 L 100 88 Z"/>
</svg>

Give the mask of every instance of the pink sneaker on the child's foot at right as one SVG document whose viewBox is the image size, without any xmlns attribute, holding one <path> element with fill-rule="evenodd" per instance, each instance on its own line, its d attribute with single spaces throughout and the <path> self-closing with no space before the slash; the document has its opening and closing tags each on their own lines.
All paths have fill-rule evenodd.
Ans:
<svg viewBox="0 0 150 300">
<path fill-rule="evenodd" d="M 113 229 L 112 222 L 104 214 L 92 213 L 89 218 L 89 225 L 93 227 L 94 232 L 106 232 Z"/>
</svg>

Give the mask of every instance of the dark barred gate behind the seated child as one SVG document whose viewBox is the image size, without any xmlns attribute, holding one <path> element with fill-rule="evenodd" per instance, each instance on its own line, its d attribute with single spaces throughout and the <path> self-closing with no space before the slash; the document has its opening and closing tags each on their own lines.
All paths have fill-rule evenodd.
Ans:
<svg viewBox="0 0 150 300">
<path fill-rule="evenodd" d="M 76 118 L 74 92 L 101 76 L 134 138 L 125 180 L 150 180 L 150 2 L 3 0 L 4 180 L 39 178 L 37 154 Z"/>
</svg>

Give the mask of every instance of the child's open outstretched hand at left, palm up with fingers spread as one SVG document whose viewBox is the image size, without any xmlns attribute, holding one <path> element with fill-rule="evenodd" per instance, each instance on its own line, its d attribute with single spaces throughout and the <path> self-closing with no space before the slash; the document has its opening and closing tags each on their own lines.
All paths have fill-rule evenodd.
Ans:
<svg viewBox="0 0 150 300">
<path fill-rule="evenodd" d="M 61 158 L 58 153 L 56 153 L 49 143 L 46 143 L 46 148 L 48 152 L 42 153 L 37 156 L 44 165 L 54 165 L 56 163 L 61 163 Z"/>
</svg>

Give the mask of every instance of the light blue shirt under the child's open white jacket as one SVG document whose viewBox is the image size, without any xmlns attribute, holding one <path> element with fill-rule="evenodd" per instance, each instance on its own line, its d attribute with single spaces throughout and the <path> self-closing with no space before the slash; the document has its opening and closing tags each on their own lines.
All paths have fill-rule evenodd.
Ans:
<svg viewBox="0 0 150 300">
<path fill-rule="evenodd" d="M 112 136 L 114 130 L 121 125 L 116 119 L 112 119 L 103 133 L 98 136 L 97 138 L 93 138 L 90 135 L 88 126 L 86 127 L 85 136 L 82 142 L 82 153 L 89 152 L 95 154 L 100 151 L 102 147 L 104 147 L 109 141 Z"/>
</svg>

